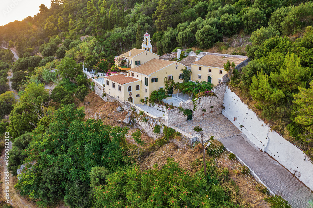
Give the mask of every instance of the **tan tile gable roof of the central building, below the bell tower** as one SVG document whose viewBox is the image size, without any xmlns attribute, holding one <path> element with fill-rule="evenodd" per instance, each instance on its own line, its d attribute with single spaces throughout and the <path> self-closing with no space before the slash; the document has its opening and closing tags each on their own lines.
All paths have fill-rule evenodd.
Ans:
<svg viewBox="0 0 313 208">
<path fill-rule="evenodd" d="M 164 67 L 167 67 L 168 65 L 172 63 L 175 63 L 175 62 L 154 58 L 137 67 L 130 69 L 129 71 L 137 72 L 137 73 L 144 74 L 144 75 L 150 75 Z"/>
</svg>

